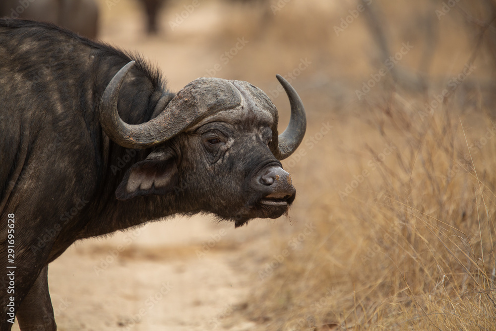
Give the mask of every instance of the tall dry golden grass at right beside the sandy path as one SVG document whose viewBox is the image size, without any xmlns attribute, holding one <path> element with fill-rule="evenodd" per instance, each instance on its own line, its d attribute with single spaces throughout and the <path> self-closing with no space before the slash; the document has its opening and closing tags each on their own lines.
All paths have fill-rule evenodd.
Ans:
<svg viewBox="0 0 496 331">
<path fill-rule="evenodd" d="M 396 148 L 367 145 L 374 176 L 317 197 L 316 236 L 248 301 L 264 330 L 496 330 L 496 127 L 418 104 L 372 105 L 378 145 Z"/>
</svg>

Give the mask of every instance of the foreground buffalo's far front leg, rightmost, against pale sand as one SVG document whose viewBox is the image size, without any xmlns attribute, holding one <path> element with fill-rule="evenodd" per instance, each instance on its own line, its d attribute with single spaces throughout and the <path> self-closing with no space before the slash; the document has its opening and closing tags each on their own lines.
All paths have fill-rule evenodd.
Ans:
<svg viewBox="0 0 496 331">
<path fill-rule="evenodd" d="M 41 269 L 38 278 L 17 310 L 21 331 L 56 331 L 54 309 L 48 291 L 48 265 Z"/>
</svg>

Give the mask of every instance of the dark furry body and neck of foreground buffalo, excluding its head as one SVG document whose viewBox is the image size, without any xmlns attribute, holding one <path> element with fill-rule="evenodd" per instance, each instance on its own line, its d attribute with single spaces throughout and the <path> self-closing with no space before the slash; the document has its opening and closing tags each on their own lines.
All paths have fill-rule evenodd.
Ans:
<svg viewBox="0 0 496 331">
<path fill-rule="evenodd" d="M 129 153 L 109 141 L 98 111 L 105 87 L 131 59 L 136 66 L 119 99 L 124 121 L 148 121 L 168 91 L 139 56 L 51 24 L 0 19 L 0 59 L 0 266 L 6 270 L 7 214 L 14 213 L 17 308 L 38 274 L 74 240 L 162 216 L 150 204 L 127 217 L 132 203 L 115 199 L 126 169 L 147 151 Z M 125 155 L 133 156 L 113 171 Z M 10 326 L 7 280 L 2 272 L 1 330 Z"/>
</svg>

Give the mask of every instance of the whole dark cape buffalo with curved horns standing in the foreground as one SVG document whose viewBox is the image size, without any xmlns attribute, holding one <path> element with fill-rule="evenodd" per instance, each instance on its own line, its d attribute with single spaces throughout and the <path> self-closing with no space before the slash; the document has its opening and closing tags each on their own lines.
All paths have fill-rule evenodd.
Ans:
<svg viewBox="0 0 496 331">
<path fill-rule="evenodd" d="M 277 132 L 257 87 L 198 78 L 178 93 L 139 55 L 49 23 L 0 19 L 1 330 L 56 330 L 48 264 L 74 241 L 175 214 L 236 227 L 295 199 L 279 160 L 306 130 L 302 101 Z"/>
</svg>

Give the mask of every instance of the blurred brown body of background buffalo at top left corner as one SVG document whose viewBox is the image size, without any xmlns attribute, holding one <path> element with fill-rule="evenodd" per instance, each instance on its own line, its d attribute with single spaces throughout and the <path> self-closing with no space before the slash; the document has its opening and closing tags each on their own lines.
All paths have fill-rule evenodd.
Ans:
<svg viewBox="0 0 496 331">
<path fill-rule="evenodd" d="M 2 0 L 1 16 L 55 23 L 91 39 L 98 33 L 95 0 Z"/>
</svg>

